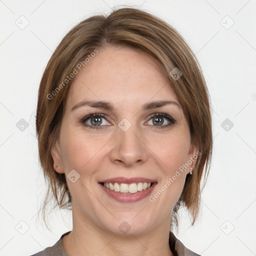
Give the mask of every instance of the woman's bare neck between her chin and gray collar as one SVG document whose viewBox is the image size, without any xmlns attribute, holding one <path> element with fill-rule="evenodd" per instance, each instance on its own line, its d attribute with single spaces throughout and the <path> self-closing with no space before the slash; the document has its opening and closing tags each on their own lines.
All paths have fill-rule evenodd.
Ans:
<svg viewBox="0 0 256 256">
<path fill-rule="evenodd" d="M 79 211 L 73 209 L 72 212 L 73 229 L 63 237 L 63 248 L 68 256 L 173 256 L 166 222 L 144 233 L 117 235 L 95 225 Z"/>
</svg>

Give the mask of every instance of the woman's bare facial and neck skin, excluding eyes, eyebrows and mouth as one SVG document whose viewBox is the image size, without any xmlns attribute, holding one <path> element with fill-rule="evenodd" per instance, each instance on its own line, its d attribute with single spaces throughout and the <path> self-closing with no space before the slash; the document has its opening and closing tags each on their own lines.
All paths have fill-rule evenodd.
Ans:
<svg viewBox="0 0 256 256">
<path fill-rule="evenodd" d="M 70 111 L 83 100 L 109 101 L 114 110 L 82 106 Z M 154 202 L 148 196 L 138 202 L 118 202 L 98 184 L 116 176 L 147 177 L 157 180 L 153 195 L 196 154 L 198 147 L 190 143 L 188 123 L 179 106 L 142 110 L 144 103 L 155 100 L 178 103 L 157 62 L 135 49 L 101 49 L 75 75 L 59 139 L 51 151 L 57 172 L 67 175 L 75 169 L 80 175 L 74 183 L 67 178 L 73 216 L 73 229 L 63 238 L 68 256 L 173 255 L 168 244 L 171 212 L 196 160 Z M 80 118 L 95 112 L 106 115 L 99 117 L 99 128 L 84 126 Z M 175 123 L 159 128 L 152 113 L 167 113 Z M 126 131 L 118 126 L 123 118 L 131 123 Z M 93 120 L 85 123 L 93 126 Z M 163 120 L 161 125 L 170 123 Z M 130 226 L 125 234 L 118 228 L 123 221 Z"/>
</svg>

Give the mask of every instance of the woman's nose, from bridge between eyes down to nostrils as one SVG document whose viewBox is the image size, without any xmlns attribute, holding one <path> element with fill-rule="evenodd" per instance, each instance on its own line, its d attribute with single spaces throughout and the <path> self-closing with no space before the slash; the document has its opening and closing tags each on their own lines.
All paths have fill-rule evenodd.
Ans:
<svg viewBox="0 0 256 256">
<path fill-rule="evenodd" d="M 125 167 L 146 162 L 148 148 L 144 140 L 143 133 L 135 125 L 132 124 L 126 131 L 118 126 L 109 154 L 110 160 Z"/>
</svg>

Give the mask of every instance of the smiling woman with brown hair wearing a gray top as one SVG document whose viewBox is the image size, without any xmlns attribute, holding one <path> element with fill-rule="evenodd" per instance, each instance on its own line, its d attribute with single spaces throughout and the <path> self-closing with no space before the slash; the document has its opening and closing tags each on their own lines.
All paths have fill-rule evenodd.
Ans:
<svg viewBox="0 0 256 256">
<path fill-rule="evenodd" d="M 43 208 L 52 192 L 73 228 L 34 256 L 199 255 L 170 230 L 180 206 L 198 216 L 209 96 L 170 25 L 134 8 L 77 24 L 43 73 L 36 129 Z"/>
</svg>

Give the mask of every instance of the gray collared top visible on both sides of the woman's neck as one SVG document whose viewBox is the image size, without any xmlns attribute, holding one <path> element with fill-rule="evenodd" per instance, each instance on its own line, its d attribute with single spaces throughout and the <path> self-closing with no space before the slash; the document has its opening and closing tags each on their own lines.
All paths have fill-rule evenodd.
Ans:
<svg viewBox="0 0 256 256">
<path fill-rule="evenodd" d="M 63 233 L 54 245 L 49 246 L 31 256 L 67 256 L 63 248 L 62 238 L 70 232 L 71 231 Z M 199 254 L 196 254 L 195 252 L 186 248 L 171 231 L 169 233 L 169 246 L 174 256 L 200 256 Z"/>
</svg>

